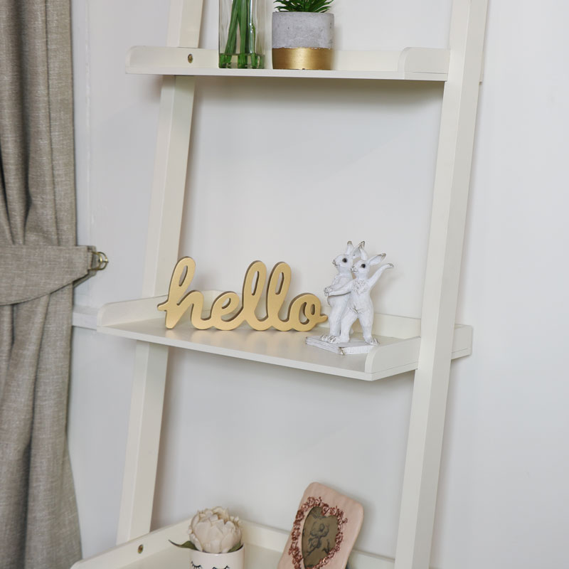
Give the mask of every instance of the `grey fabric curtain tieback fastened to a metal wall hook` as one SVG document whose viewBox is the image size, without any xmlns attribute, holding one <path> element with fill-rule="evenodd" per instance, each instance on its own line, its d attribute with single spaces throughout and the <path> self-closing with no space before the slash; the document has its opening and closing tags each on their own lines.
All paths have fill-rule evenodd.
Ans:
<svg viewBox="0 0 569 569">
<path fill-rule="evenodd" d="M 105 253 L 81 245 L 0 246 L 0 305 L 18 304 L 78 285 L 104 269 Z"/>
</svg>

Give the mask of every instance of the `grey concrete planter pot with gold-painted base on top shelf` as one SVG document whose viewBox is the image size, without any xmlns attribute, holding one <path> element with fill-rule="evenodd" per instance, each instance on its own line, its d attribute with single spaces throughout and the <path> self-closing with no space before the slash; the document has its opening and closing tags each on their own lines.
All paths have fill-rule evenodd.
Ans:
<svg viewBox="0 0 569 569">
<path fill-rule="evenodd" d="M 273 69 L 331 69 L 334 14 L 273 12 Z"/>
</svg>

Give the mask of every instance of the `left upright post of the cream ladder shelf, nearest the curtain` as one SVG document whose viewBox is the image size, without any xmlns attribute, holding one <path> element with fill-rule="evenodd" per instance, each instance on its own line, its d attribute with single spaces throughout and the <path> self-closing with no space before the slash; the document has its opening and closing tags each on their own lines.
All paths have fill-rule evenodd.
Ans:
<svg viewBox="0 0 569 569">
<path fill-rule="evenodd" d="M 171 0 L 168 46 L 197 47 L 203 0 Z M 142 294 L 166 294 L 178 259 L 195 79 L 163 79 Z M 117 543 L 150 531 L 168 346 L 138 341 Z"/>
</svg>

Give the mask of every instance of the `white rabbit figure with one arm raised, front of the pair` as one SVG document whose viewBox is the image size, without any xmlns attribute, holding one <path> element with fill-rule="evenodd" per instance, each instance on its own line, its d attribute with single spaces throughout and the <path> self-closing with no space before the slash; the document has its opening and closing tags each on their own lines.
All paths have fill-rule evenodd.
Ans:
<svg viewBox="0 0 569 569">
<path fill-rule="evenodd" d="M 349 292 L 348 303 L 341 319 L 340 335 L 329 340 L 332 344 L 348 342 L 350 340 L 351 326 L 357 319 L 360 321 L 363 339 L 366 341 L 366 344 L 371 344 L 372 346 L 378 344 L 378 341 L 371 335 L 373 302 L 371 302 L 370 292 L 373 285 L 378 282 L 379 277 L 383 274 L 383 271 L 393 268 L 393 264 L 388 262 L 382 265 L 368 278 L 371 267 L 379 265 L 385 258 L 385 253 L 375 255 L 370 259 L 363 248 L 360 248 L 360 257 L 360 260 L 356 261 L 353 267 L 351 267 L 351 272 L 353 272 L 355 278 L 347 282 L 343 287 L 329 292 L 330 296 Z"/>
</svg>

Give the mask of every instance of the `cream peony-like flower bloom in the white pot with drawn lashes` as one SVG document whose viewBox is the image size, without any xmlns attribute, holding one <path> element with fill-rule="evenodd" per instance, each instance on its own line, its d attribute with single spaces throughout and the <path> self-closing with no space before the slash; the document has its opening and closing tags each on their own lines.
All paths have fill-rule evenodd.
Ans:
<svg viewBox="0 0 569 569">
<path fill-rule="evenodd" d="M 206 553 L 228 553 L 241 543 L 239 518 L 220 506 L 198 511 L 188 533 L 193 545 Z"/>
</svg>

